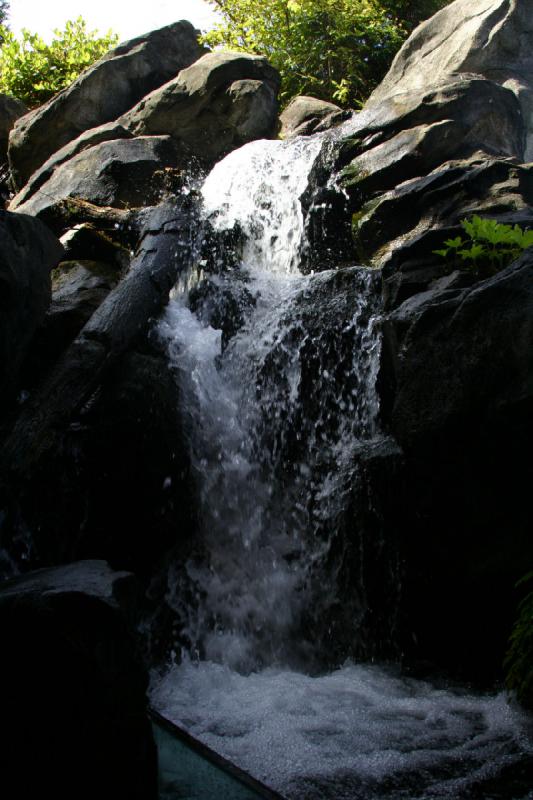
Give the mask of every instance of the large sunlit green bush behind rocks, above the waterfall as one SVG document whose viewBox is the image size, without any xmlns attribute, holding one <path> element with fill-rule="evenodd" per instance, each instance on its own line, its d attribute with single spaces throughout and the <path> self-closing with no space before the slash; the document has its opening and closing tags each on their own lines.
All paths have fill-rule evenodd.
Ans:
<svg viewBox="0 0 533 800">
<path fill-rule="evenodd" d="M 449 0 L 209 0 L 222 23 L 216 47 L 266 56 L 282 101 L 310 94 L 343 106 L 368 97 L 412 28 Z"/>
</svg>

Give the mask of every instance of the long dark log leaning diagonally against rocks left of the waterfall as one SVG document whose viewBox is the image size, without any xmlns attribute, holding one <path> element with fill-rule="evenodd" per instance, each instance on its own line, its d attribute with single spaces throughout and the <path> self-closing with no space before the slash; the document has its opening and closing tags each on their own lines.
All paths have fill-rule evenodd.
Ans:
<svg viewBox="0 0 533 800">
<path fill-rule="evenodd" d="M 10 480 L 17 482 L 49 451 L 61 450 L 70 420 L 90 403 L 95 386 L 146 336 L 178 275 L 191 265 L 196 212 L 193 197 L 146 210 L 141 241 L 127 274 L 54 365 L 4 441 L 1 469 Z"/>
</svg>

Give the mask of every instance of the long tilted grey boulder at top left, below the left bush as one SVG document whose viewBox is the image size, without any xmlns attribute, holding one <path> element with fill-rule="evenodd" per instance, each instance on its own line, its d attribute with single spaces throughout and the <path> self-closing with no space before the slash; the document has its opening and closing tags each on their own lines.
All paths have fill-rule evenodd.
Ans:
<svg viewBox="0 0 533 800">
<path fill-rule="evenodd" d="M 81 133 L 116 120 L 144 95 L 205 52 L 190 22 L 175 22 L 124 42 L 67 89 L 16 124 L 9 161 L 18 188 L 59 148 Z"/>
</svg>

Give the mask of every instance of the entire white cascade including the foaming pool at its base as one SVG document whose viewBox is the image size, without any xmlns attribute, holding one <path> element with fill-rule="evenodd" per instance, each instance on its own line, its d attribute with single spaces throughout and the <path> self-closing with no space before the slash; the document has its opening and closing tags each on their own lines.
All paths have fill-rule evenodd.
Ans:
<svg viewBox="0 0 533 800">
<path fill-rule="evenodd" d="M 338 595 L 335 546 L 361 453 L 383 438 L 377 276 L 299 271 L 323 144 L 254 142 L 215 167 L 205 218 L 240 255 L 200 262 L 160 325 L 201 530 L 169 576 L 182 652 L 152 699 L 287 797 L 475 796 L 528 747 L 503 697 L 350 663 L 317 674 L 332 609 L 351 603 L 354 637 L 365 612 L 363 579 Z"/>
</svg>

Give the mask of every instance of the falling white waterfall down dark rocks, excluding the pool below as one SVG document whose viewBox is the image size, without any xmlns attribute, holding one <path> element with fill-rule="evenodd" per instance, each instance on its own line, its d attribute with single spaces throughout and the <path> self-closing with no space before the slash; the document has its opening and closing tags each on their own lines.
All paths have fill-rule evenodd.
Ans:
<svg viewBox="0 0 533 800">
<path fill-rule="evenodd" d="M 196 313 L 180 294 L 161 325 L 202 515 L 201 560 L 177 570 L 172 603 L 193 650 L 248 671 L 298 656 L 302 614 L 323 605 L 314 584 L 339 476 L 377 434 L 375 276 L 298 270 L 300 196 L 321 143 L 254 142 L 215 167 L 205 215 L 218 232 L 239 226 L 238 275 L 212 277 Z M 224 348 L 209 317 L 232 281 L 248 308 Z M 197 602 L 185 609 L 184 594 Z"/>
</svg>

